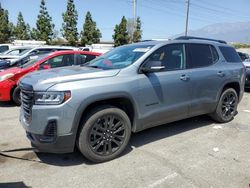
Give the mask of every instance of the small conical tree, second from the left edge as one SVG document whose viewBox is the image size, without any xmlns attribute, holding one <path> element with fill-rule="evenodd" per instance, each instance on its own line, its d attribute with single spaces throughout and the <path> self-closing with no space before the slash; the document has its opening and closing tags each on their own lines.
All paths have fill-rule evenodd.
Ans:
<svg viewBox="0 0 250 188">
<path fill-rule="evenodd" d="M 29 25 L 25 23 L 21 12 L 19 12 L 17 16 L 17 24 L 16 27 L 14 28 L 14 36 L 15 39 L 19 40 L 30 39 Z"/>
</svg>

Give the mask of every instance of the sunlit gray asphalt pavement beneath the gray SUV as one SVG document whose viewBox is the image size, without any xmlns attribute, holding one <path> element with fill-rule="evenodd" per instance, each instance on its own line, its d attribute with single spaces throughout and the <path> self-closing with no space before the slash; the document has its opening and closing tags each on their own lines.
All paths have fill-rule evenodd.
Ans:
<svg viewBox="0 0 250 188">
<path fill-rule="evenodd" d="M 132 135 L 125 153 L 94 164 L 75 151 L 30 146 L 19 107 L 0 103 L 0 188 L 250 187 L 250 92 L 226 124 L 199 116 Z"/>
</svg>

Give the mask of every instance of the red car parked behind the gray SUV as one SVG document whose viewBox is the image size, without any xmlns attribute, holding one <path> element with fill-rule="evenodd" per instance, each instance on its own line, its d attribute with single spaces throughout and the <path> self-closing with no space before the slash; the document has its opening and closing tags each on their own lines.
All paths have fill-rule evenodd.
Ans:
<svg viewBox="0 0 250 188">
<path fill-rule="evenodd" d="M 0 72 L 0 101 L 13 100 L 17 105 L 20 105 L 20 89 L 17 84 L 23 76 L 30 72 L 81 65 L 100 55 L 100 53 L 88 51 L 56 51 L 49 55 L 37 56 L 36 59 L 31 59 L 19 67 Z"/>
</svg>

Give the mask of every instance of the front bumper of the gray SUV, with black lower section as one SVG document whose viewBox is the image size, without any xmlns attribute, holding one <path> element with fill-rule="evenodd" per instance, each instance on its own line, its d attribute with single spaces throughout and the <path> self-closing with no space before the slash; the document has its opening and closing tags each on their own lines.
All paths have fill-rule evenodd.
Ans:
<svg viewBox="0 0 250 188">
<path fill-rule="evenodd" d="M 69 153 L 74 151 L 76 131 L 74 110 L 67 104 L 34 105 L 27 122 L 21 106 L 20 122 L 31 144 L 42 152 Z"/>
</svg>

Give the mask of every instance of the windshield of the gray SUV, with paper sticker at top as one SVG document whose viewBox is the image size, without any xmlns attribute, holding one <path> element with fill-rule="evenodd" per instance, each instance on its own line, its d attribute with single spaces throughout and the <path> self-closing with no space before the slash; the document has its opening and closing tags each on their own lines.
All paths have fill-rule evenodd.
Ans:
<svg viewBox="0 0 250 188">
<path fill-rule="evenodd" d="M 108 53 L 86 63 L 84 66 L 101 69 L 120 69 L 133 64 L 143 54 L 145 54 L 152 45 L 127 45 L 117 47 Z"/>
</svg>

